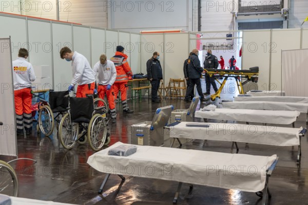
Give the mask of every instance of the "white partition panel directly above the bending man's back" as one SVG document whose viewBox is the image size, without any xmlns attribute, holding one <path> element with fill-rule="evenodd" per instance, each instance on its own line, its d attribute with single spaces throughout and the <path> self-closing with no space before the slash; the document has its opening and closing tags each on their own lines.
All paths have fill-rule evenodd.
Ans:
<svg viewBox="0 0 308 205">
<path fill-rule="evenodd" d="M 91 41 L 89 27 L 73 26 L 74 51 L 84 55 L 91 65 Z"/>
</svg>

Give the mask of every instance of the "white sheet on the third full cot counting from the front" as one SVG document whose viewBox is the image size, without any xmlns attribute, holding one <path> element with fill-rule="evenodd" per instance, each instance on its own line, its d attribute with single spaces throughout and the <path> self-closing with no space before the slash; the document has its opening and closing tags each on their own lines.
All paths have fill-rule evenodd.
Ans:
<svg viewBox="0 0 308 205">
<path fill-rule="evenodd" d="M 217 108 L 215 111 L 196 111 L 195 117 L 289 125 L 296 121 L 299 114 L 298 111 Z"/>
</svg>

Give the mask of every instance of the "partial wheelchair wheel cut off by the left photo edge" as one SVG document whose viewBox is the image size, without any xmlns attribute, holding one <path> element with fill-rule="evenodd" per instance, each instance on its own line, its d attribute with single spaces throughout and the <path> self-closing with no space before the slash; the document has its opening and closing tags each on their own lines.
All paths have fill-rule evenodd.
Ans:
<svg viewBox="0 0 308 205">
<path fill-rule="evenodd" d="M 0 160 L 0 194 L 17 196 L 18 180 L 13 168 L 5 161 Z"/>
</svg>

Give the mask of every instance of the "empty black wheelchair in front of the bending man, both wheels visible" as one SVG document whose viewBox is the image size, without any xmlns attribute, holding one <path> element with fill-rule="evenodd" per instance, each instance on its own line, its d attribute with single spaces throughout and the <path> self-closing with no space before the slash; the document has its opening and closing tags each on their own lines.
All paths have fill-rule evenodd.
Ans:
<svg viewBox="0 0 308 205">
<path fill-rule="evenodd" d="M 104 105 L 104 106 L 99 106 Z M 106 102 L 93 95 L 84 98 L 69 97 L 69 109 L 59 125 L 59 139 L 65 149 L 72 149 L 76 142 L 88 141 L 94 151 L 99 151 L 110 141 Z M 109 139 L 108 139 L 109 138 Z M 107 139 L 107 141 L 106 141 Z"/>
</svg>

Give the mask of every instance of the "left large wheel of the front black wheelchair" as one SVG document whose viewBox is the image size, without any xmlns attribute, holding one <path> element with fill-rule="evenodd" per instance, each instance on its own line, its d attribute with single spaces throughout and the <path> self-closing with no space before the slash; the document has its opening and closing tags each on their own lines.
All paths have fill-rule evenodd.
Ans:
<svg viewBox="0 0 308 205">
<path fill-rule="evenodd" d="M 65 149 L 72 149 L 75 144 L 75 138 L 79 132 L 79 124 L 73 124 L 70 120 L 69 113 L 66 113 L 61 119 L 59 126 L 59 139 Z"/>
</svg>

